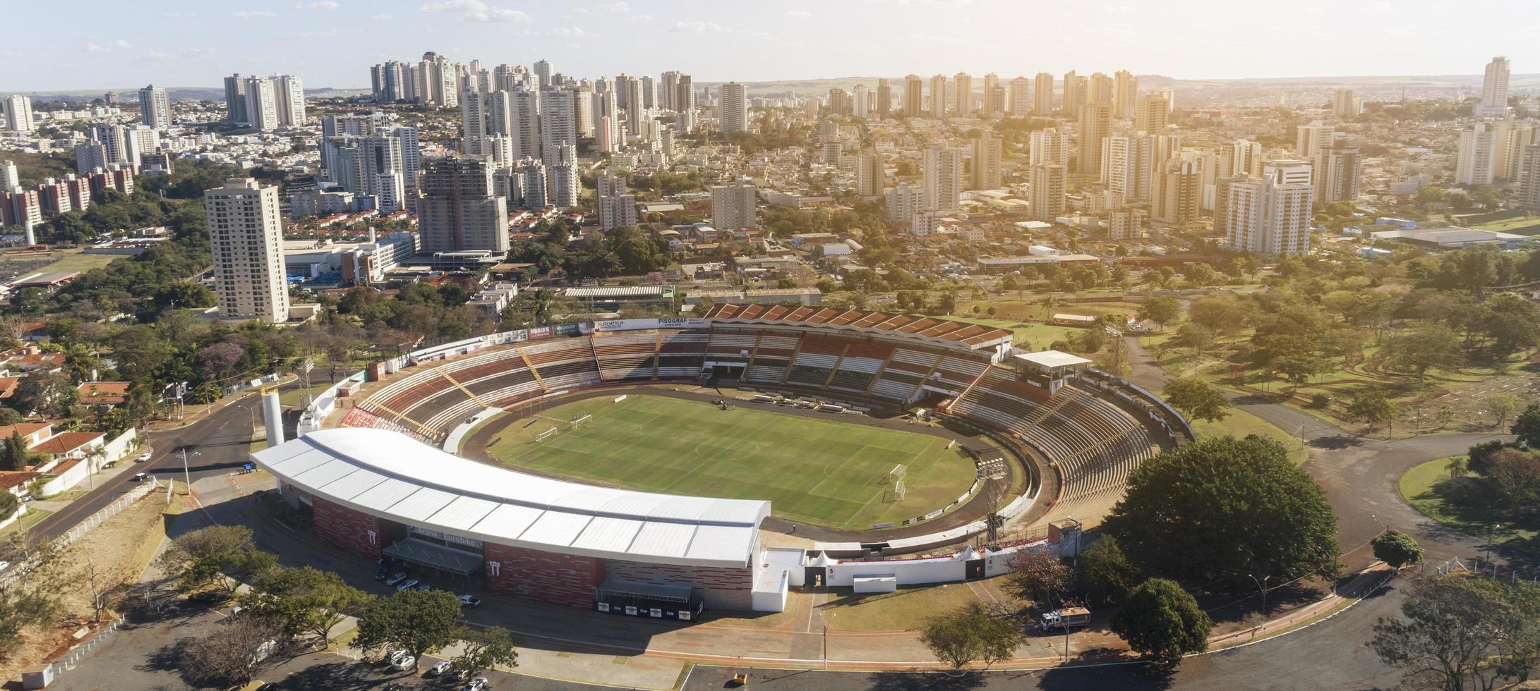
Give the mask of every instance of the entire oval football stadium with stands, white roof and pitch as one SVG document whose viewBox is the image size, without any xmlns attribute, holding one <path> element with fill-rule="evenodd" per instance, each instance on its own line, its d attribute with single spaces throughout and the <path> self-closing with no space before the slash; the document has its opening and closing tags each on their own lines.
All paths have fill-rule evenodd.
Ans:
<svg viewBox="0 0 1540 691">
<path fill-rule="evenodd" d="M 339 549 L 681 620 L 1078 551 L 1129 471 L 1192 439 L 1158 397 L 1009 331 L 765 305 L 425 348 L 302 412 L 253 459 Z"/>
</svg>

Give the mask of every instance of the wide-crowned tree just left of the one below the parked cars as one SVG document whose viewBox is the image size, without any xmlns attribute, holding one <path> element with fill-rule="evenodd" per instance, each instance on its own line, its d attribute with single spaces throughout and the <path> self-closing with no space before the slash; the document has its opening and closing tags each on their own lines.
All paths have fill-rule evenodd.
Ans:
<svg viewBox="0 0 1540 691">
<path fill-rule="evenodd" d="M 310 633 L 322 643 L 331 640 L 336 625 L 373 600 L 374 596 L 348 585 L 340 574 L 311 566 L 271 569 L 242 596 L 253 613 L 283 622 L 288 636 Z"/>
</svg>

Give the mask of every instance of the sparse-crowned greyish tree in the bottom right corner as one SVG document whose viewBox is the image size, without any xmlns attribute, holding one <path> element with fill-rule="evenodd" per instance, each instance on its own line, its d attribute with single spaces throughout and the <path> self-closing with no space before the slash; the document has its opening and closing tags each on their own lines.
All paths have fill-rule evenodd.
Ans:
<svg viewBox="0 0 1540 691">
<path fill-rule="evenodd" d="M 1368 643 L 1408 688 L 1449 691 L 1528 680 L 1540 660 L 1540 586 L 1497 579 L 1418 579 L 1401 617 L 1380 617 Z"/>
</svg>

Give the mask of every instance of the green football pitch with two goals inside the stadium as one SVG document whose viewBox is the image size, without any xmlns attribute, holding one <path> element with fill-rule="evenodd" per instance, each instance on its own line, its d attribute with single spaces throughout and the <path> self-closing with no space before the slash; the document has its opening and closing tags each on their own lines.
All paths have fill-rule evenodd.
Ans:
<svg viewBox="0 0 1540 691">
<path fill-rule="evenodd" d="M 573 425 L 584 416 L 593 417 Z M 941 437 L 838 417 L 750 403 L 724 411 L 645 394 L 596 397 L 544 409 L 534 422 L 513 420 L 487 451 L 514 468 L 596 485 L 765 499 L 776 516 L 833 528 L 924 516 L 973 485 L 962 445 L 949 449 Z M 904 500 L 890 477 L 898 465 L 907 471 Z"/>
</svg>

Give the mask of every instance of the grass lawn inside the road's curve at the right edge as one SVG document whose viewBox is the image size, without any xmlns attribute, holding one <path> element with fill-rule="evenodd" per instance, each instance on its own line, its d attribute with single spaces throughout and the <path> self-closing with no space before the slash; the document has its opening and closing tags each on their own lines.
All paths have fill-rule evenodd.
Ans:
<svg viewBox="0 0 1540 691">
<path fill-rule="evenodd" d="M 1494 540 L 1540 554 L 1540 525 L 1514 525 L 1486 492 L 1474 489 L 1474 482 L 1449 479 L 1449 459 L 1429 460 L 1401 476 L 1401 499 L 1429 519 L 1477 539 L 1486 539 L 1488 528 L 1500 523 L 1502 528 L 1491 532 Z"/>
</svg>

